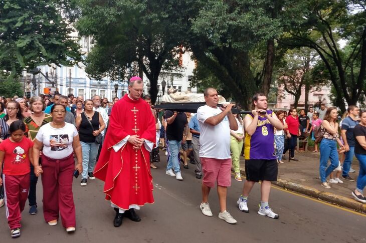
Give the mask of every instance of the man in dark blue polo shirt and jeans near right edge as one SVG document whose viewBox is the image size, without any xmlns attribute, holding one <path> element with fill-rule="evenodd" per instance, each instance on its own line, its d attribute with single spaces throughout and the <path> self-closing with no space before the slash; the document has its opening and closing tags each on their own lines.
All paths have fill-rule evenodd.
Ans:
<svg viewBox="0 0 366 243">
<path fill-rule="evenodd" d="M 343 162 L 342 177 L 345 180 L 354 181 L 349 175 L 349 169 L 351 168 L 351 163 L 354 156 L 354 146 L 355 140 L 353 136 L 353 129 L 358 124 L 358 107 L 350 105 L 347 109 L 348 116 L 342 121 L 342 127 L 340 128 L 340 135 L 342 136 L 344 147 L 345 147 L 345 159 Z"/>
</svg>

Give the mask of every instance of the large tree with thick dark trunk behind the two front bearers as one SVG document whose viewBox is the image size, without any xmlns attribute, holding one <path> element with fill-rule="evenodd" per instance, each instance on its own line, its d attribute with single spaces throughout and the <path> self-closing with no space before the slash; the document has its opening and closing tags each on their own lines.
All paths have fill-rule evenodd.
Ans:
<svg viewBox="0 0 366 243">
<path fill-rule="evenodd" d="M 248 109 L 255 91 L 268 93 L 275 60 L 275 39 L 297 18 L 284 13 L 301 8 L 298 1 L 201 1 L 193 19 L 191 48 L 204 65 L 223 82 L 233 98 Z M 266 53 L 259 75 L 251 70 L 252 52 Z M 263 54 L 263 51 L 262 51 Z"/>
</svg>

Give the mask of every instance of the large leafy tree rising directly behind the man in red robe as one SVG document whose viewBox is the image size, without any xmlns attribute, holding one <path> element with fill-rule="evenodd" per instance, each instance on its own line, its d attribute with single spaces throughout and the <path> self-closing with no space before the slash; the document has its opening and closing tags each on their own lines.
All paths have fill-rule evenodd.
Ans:
<svg viewBox="0 0 366 243">
<path fill-rule="evenodd" d="M 185 40 L 190 15 L 195 13 L 194 3 L 193 0 L 82 0 L 77 29 L 81 35 L 93 36 L 95 47 L 112 52 L 100 73 L 114 70 L 116 64 L 137 65 L 150 81 L 154 103 L 161 70 L 180 68 L 179 54 L 187 46 Z M 94 59 L 99 58 L 103 56 L 95 54 Z"/>
</svg>

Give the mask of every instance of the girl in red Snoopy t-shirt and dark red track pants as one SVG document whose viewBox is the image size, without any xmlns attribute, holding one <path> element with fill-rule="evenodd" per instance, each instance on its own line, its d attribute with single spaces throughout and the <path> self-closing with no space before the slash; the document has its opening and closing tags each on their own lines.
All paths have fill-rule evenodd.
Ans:
<svg viewBox="0 0 366 243">
<path fill-rule="evenodd" d="M 25 132 L 24 122 L 14 121 L 9 127 L 11 136 L 0 143 L 0 168 L 4 163 L 0 185 L 4 184 L 8 224 L 13 238 L 21 235 L 21 212 L 28 198 L 30 162 L 33 164 L 33 142 L 24 136 Z"/>
</svg>

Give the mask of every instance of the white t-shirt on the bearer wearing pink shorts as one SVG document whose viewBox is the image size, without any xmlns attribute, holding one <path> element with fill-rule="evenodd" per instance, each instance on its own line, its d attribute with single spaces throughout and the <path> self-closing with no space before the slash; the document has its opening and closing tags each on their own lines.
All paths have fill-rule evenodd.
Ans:
<svg viewBox="0 0 366 243">
<path fill-rule="evenodd" d="M 230 125 L 227 116 L 216 126 L 205 123 L 207 118 L 216 116 L 222 111 L 208 105 L 197 110 L 197 119 L 200 124 L 200 157 L 229 159 L 230 156 Z"/>
</svg>

